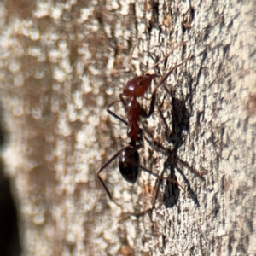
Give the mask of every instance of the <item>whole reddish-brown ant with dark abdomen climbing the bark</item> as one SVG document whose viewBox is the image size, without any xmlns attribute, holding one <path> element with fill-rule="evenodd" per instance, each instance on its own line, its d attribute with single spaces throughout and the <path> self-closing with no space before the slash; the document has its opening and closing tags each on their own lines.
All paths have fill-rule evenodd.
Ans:
<svg viewBox="0 0 256 256">
<path fill-rule="evenodd" d="M 154 67 L 157 67 L 160 62 L 166 61 L 166 59 L 169 57 L 169 55 L 172 54 L 172 52 L 177 49 L 179 46 L 183 45 L 178 44 L 177 47 L 172 49 L 162 60 L 158 61 L 156 64 L 154 64 L 153 67 L 148 68 L 142 76 L 135 76 L 133 79 L 129 80 L 127 84 L 125 85 L 125 89 L 123 90 L 123 93 L 119 94 L 119 100 L 122 102 L 125 113 L 127 114 L 128 121 L 125 121 L 125 119 L 122 119 L 118 114 L 113 113 L 109 108 L 113 105 L 108 105 L 107 111 L 109 114 L 111 114 L 114 118 L 119 119 L 122 123 L 127 125 L 129 127 L 129 130 L 127 132 L 128 137 L 130 137 L 130 143 L 128 143 L 127 146 L 124 148 L 119 149 L 119 151 L 116 154 L 113 154 L 113 156 L 105 163 L 103 166 L 96 172 L 97 177 L 99 178 L 100 182 L 102 183 L 102 186 L 106 190 L 108 197 L 111 201 L 113 201 L 113 198 L 106 186 L 106 184 L 103 182 L 102 177 L 100 177 L 100 173 L 115 160 L 119 156 L 119 172 L 121 173 L 122 177 L 125 178 L 125 180 L 129 183 L 135 183 L 137 181 L 138 177 L 138 171 L 139 168 L 143 169 L 143 171 L 148 172 L 149 174 L 154 175 L 155 177 L 158 177 L 159 179 L 166 179 L 167 181 L 171 183 L 176 183 L 178 186 L 179 183 L 177 183 L 176 180 L 173 180 L 168 177 L 162 177 L 144 166 L 140 166 L 139 164 L 139 154 L 138 149 L 142 148 L 143 146 L 143 130 L 139 127 L 138 121 L 140 118 L 146 118 L 148 119 L 152 113 L 154 112 L 154 105 L 155 105 L 155 99 L 156 99 L 156 92 L 160 88 L 162 84 L 166 82 L 166 79 L 168 76 L 172 73 L 174 69 L 177 67 L 180 67 L 189 60 L 189 57 L 187 57 L 184 61 L 177 64 L 176 66 L 172 67 L 163 77 L 160 79 L 159 84 L 154 88 L 154 91 L 152 93 L 151 102 L 150 102 L 150 108 L 149 112 L 147 113 L 145 109 L 141 107 L 139 102 L 137 102 L 137 97 L 143 97 L 148 90 L 149 85 L 151 84 L 152 80 L 157 77 L 156 73 L 149 74 L 148 71 Z M 133 53 L 134 48 L 131 51 L 131 55 Z M 131 55 L 129 58 L 129 66 L 131 61 Z M 130 66 L 131 67 L 131 66 Z M 133 68 L 131 67 L 131 70 L 133 71 Z M 134 72 L 135 73 L 135 72 Z M 125 100 L 125 97 L 127 100 Z M 181 186 L 180 186 L 181 187 Z M 182 188 L 182 187 L 181 187 Z M 114 201 L 113 201 L 114 202 Z"/>
</svg>

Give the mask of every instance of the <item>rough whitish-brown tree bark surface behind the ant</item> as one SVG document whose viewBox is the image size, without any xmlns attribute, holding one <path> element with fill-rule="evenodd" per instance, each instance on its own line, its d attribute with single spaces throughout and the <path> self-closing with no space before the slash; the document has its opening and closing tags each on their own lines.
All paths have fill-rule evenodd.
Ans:
<svg viewBox="0 0 256 256">
<path fill-rule="evenodd" d="M 255 9 L 249 0 L 0 4 L 3 160 L 24 255 L 256 254 Z M 152 71 L 148 97 L 191 55 L 142 120 L 156 146 L 139 152 L 183 189 L 143 172 L 131 186 L 115 160 L 101 175 L 117 207 L 96 170 L 129 140 L 106 108 L 133 76 L 133 45 L 142 73 L 183 42 Z"/>
</svg>

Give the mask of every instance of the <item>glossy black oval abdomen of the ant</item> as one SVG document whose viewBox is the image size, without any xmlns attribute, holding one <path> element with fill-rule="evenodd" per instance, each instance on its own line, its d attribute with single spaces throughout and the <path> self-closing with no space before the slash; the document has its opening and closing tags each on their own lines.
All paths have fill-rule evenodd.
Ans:
<svg viewBox="0 0 256 256">
<path fill-rule="evenodd" d="M 128 146 L 119 154 L 119 171 L 129 183 L 136 183 L 138 177 L 139 154 Z"/>
</svg>

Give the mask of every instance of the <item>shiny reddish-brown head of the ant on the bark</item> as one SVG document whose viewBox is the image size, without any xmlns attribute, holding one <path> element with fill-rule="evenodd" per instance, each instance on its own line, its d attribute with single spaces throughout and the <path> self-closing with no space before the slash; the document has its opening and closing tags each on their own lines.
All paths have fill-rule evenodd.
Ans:
<svg viewBox="0 0 256 256">
<path fill-rule="evenodd" d="M 157 77 L 157 74 L 145 74 L 143 76 L 135 77 L 127 82 L 123 91 L 125 96 L 141 97 L 144 96 L 148 90 L 151 81 Z"/>
</svg>

